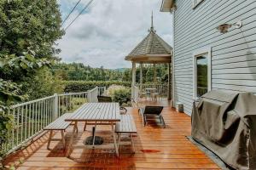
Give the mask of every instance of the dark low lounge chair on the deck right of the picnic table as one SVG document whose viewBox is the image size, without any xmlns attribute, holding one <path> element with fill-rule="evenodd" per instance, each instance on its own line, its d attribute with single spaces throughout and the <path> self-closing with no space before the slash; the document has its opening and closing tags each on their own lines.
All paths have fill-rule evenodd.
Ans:
<svg viewBox="0 0 256 170">
<path fill-rule="evenodd" d="M 143 125 L 146 126 L 148 124 L 148 117 L 158 117 L 160 122 L 163 123 L 163 126 L 166 127 L 164 117 L 161 115 L 163 108 L 163 106 L 146 106 L 145 108 L 140 108 L 139 114 L 143 117 Z"/>
</svg>

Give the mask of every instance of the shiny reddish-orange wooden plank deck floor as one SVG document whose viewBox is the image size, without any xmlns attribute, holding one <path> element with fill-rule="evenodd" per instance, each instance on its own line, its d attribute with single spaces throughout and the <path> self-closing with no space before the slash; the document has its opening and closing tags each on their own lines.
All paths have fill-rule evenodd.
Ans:
<svg viewBox="0 0 256 170">
<path fill-rule="evenodd" d="M 163 101 L 164 102 L 164 101 Z M 153 104 L 151 104 L 153 105 Z M 160 103 L 155 104 L 160 105 Z M 112 150 L 73 150 L 70 158 L 65 157 L 61 142 L 52 142 L 47 150 L 49 133 L 44 134 L 23 150 L 9 156 L 7 165 L 15 164 L 17 169 L 218 169 L 201 150 L 186 139 L 190 134 L 190 117 L 165 107 L 166 128 L 149 122 L 143 127 L 137 108 L 128 108 L 137 125 L 135 137 L 136 153 L 132 154 L 131 146 L 122 146 L 120 157 Z M 82 143 L 90 135 L 91 127 L 82 133 L 84 124 L 79 124 L 79 133 L 75 142 Z M 67 128 L 67 142 L 72 127 Z M 96 135 L 108 134 L 110 127 L 97 128 Z M 55 138 L 61 133 L 55 133 Z"/>
</svg>

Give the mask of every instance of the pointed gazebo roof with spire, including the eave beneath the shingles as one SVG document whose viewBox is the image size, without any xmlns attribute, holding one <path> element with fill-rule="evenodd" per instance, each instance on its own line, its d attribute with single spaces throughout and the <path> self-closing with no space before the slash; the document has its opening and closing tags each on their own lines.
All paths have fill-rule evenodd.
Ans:
<svg viewBox="0 0 256 170">
<path fill-rule="evenodd" d="M 153 15 L 148 36 L 125 57 L 125 60 L 145 63 L 172 62 L 172 47 L 154 31 Z"/>
</svg>

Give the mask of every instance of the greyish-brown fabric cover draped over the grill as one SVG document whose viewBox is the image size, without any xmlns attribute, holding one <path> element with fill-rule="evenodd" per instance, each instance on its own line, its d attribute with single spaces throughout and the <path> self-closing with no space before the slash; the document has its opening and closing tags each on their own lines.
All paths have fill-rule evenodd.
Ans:
<svg viewBox="0 0 256 170">
<path fill-rule="evenodd" d="M 192 137 L 230 167 L 256 169 L 256 96 L 213 90 L 194 103 Z"/>
</svg>

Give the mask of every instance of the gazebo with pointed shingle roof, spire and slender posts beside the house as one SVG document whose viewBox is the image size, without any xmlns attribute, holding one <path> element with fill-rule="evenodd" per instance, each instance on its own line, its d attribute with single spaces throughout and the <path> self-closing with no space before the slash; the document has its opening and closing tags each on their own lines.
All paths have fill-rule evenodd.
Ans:
<svg viewBox="0 0 256 170">
<path fill-rule="evenodd" d="M 156 83 L 156 64 L 168 64 L 168 99 L 171 99 L 171 71 L 172 71 L 172 47 L 156 34 L 154 30 L 153 14 L 148 36 L 134 48 L 125 60 L 132 63 L 131 97 L 136 98 L 136 66 L 140 65 L 140 87 L 143 86 L 143 64 L 154 65 L 154 84 Z M 142 90 L 142 88 L 140 88 Z"/>
</svg>

